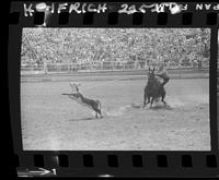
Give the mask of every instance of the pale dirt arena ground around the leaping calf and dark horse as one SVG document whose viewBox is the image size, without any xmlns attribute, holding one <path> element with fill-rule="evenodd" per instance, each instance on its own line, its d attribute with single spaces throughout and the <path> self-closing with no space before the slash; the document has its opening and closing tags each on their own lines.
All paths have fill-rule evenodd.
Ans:
<svg viewBox="0 0 219 180">
<path fill-rule="evenodd" d="M 25 151 L 210 151 L 208 79 L 171 80 L 171 108 L 152 109 L 142 109 L 146 80 L 81 84 L 84 96 L 101 100 L 102 119 L 61 95 L 71 91 L 68 81 L 21 83 Z"/>
</svg>

